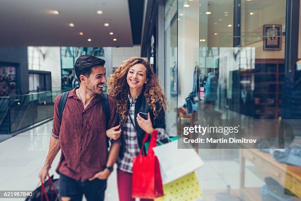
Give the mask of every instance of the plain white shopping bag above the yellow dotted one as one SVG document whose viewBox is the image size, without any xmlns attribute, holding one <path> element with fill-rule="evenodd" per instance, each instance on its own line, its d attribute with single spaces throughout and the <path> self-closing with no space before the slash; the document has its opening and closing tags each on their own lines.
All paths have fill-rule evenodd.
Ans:
<svg viewBox="0 0 301 201">
<path fill-rule="evenodd" d="M 160 164 L 162 183 L 167 184 L 188 174 L 204 163 L 196 151 L 178 149 L 178 140 L 153 148 Z"/>
</svg>

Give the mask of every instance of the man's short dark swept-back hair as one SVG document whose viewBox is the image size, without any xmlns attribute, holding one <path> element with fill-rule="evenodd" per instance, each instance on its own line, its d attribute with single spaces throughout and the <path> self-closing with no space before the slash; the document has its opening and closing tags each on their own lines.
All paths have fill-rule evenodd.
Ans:
<svg viewBox="0 0 301 201">
<path fill-rule="evenodd" d="M 85 75 L 89 77 L 92 71 L 92 67 L 98 67 L 98 66 L 104 66 L 106 61 L 103 59 L 99 59 L 97 57 L 94 57 L 92 55 L 82 55 L 80 56 L 74 65 L 74 71 L 76 74 L 76 77 L 79 81 L 80 80 L 80 75 Z"/>
</svg>

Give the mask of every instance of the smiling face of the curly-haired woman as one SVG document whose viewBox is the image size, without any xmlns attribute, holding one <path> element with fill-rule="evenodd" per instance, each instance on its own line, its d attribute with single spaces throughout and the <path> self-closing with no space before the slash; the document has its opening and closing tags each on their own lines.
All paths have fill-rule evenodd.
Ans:
<svg viewBox="0 0 301 201">
<path fill-rule="evenodd" d="M 131 89 L 141 89 L 147 82 L 147 68 L 143 64 L 135 64 L 127 72 L 126 81 Z"/>
</svg>

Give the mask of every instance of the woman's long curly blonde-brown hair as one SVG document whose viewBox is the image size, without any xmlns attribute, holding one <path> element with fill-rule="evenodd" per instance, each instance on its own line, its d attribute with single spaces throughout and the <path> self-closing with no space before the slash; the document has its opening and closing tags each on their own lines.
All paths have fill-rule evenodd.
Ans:
<svg viewBox="0 0 301 201">
<path fill-rule="evenodd" d="M 117 110 L 120 113 L 121 121 L 126 119 L 126 109 L 128 103 L 129 86 L 126 81 L 128 70 L 136 64 L 142 64 L 147 68 L 147 80 L 144 84 L 142 92 L 144 92 L 145 98 L 152 109 L 154 117 L 158 117 L 158 112 L 162 109 L 166 109 L 167 101 L 165 94 L 162 91 L 158 77 L 153 72 L 151 64 L 145 59 L 139 57 L 132 57 L 126 61 L 123 61 L 115 72 L 110 75 L 108 81 L 107 92 L 110 97 L 115 101 Z"/>
</svg>

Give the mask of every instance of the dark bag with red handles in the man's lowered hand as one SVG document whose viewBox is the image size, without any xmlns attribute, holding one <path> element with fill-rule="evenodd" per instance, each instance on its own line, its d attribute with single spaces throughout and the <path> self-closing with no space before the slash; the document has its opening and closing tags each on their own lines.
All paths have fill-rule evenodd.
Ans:
<svg viewBox="0 0 301 201">
<path fill-rule="evenodd" d="M 53 179 L 53 175 L 49 176 L 48 180 L 37 187 L 32 196 L 28 197 L 25 201 L 59 201 L 59 179 Z"/>
</svg>

